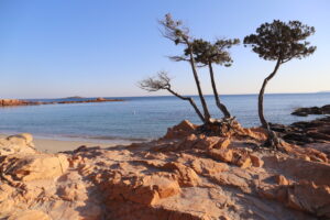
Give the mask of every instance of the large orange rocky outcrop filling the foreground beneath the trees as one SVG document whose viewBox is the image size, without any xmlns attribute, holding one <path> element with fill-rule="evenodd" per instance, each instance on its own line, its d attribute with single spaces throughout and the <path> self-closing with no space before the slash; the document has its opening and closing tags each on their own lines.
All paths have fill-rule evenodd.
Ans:
<svg viewBox="0 0 330 220">
<path fill-rule="evenodd" d="M 0 218 L 330 218 L 326 154 L 289 143 L 278 152 L 256 147 L 266 139 L 262 129 L 227 131 L 209 136 L 184 121 L 148 143 L 2 154 Z M 0 140 L 1 147 L 32 141 L 28 134 L 12 139 Z"/>
</svg>

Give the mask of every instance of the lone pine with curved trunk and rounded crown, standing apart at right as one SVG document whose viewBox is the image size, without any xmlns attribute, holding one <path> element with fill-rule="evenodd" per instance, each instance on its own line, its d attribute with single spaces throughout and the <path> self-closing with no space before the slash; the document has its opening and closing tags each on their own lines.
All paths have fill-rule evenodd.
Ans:
<svg viewBox="0 0 330 220">
<path fill-rule="evenodd" d="M 258 94 L 258 118 L 262 127 L 270 135 L 265 143 L 268 146 L 277 147 L 280 141 L 270 128 L 264 117 L 264 92 L 267 82 L 276 75 L 279 66 L 293 58 L 302 58 L 316 51 L 316 46 L 310 46 L 305 41 L 315 33 L 314 26 L 308 26 L 299 21 L 289 21 L 288 23 L 274 20 L 272 23 L 264 23 L 256 29 L 255 34 L 244 37 L 244 44 L 251 45 L 252 51 L 266 61 L 276 61 L 274 70 L 264 79 Z"/>
</svg>

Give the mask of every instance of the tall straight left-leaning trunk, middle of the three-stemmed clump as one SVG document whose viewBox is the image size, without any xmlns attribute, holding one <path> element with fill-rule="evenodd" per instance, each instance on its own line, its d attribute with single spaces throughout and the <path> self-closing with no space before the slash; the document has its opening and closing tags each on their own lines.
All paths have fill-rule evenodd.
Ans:
<svg viewBox="0 0 330 220">
<path fill-rule="evenodd" d="M 198 96 L 199 96 L 199 99 L 200 99 L 200 102 L 201 102 L 201 106 L 202 106 L 202 109 L 204 109 L 205 123 L 210 123 L 211 116 L 210 116 L 210 112 L 208 110 L 208 106 L 205 101 L 205 98 L 204 98 L 204 95 L 202 95 L 202 91 L 201 91 L 201 88 L 200 88 L 200 82 L 199 82 L 199 78 L 198 78 L 198 74 L 197 74 L 196 65 L 195 65 L 195 58 L 194 58 L 194 55 L 193 55 L 193 48 L 191 48 L 191 45 L 190 45 L 189 42 L 187 42 L 187 46 L 188 46 L 189 55 L 190 55 L 189 63 L 191 65 L 195 82 L 196 82 L 197 90 L 198 90 Z"/>
</svg>

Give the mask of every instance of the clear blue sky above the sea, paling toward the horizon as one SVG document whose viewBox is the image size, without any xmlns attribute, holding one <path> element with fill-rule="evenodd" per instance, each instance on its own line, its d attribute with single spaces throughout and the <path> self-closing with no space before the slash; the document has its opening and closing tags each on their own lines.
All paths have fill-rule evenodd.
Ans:
<svg viewBox="0 0 330 220">
<path fill-rule="evenodd" d="M 136 81 L 157 70 L 196 94 L 188 64 L 166 58 L 182 50 L 160 34 L 167 12 L 207 40 L 242 40 L 274 19 L 314 25 L 317 52 L 283 65 L 266 92 L 330 90 L 329 11 L 329 0 L 1 0 L 0 98 L 145 96 Z M 216 68 L 221 94 L 257 92 L 275 65 L 243 45 L 232 57 L 232 67 Z M 211 94 L 206 69 L 200 78 Z"/>
</svg>

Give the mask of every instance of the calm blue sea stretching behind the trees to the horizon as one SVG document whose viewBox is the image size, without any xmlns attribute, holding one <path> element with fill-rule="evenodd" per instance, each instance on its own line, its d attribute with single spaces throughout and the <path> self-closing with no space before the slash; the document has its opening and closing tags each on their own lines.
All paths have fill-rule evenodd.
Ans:
<svg viewBox="0 0 330 220">
<path fill-rule="evenodd" d="M 191 106 L 176 97 L 120 98 L 124 101 L 0 108 L 0 133 L 28 132 L 43 139 L 131 143 L 161 138 L 167 128 L 185 119 L 200 123 Z M 199 103 L 197 96 L 193 98 Z M 257 95 L 224 95 L 220 99 L 242 125 L 260 125 Z M 206 96 L 206 100 L 212 117 L 221 118 L 213 97 Z M 290 124 L 320 117 L 292 116 L 295 109 L 329 103 L 330 92 L 267 94 L 264 97 L 264 114 L 270 122 Z"/>
</svg>

